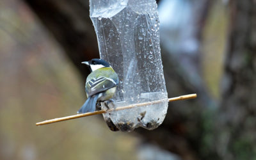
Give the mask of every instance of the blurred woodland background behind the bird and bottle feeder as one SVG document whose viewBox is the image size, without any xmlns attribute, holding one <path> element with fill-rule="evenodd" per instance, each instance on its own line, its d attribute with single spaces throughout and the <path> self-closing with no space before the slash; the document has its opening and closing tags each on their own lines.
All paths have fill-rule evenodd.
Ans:
<svg viewBox="0 0 256 160">
<path fill-rule="evenodd" d="M 84 0 L 0 1 L 0 159 L 256 159 L 256 1 L 161 0 L 169 104 L 154 131 L 75 114 L 99 57 Z"/>
</svg>

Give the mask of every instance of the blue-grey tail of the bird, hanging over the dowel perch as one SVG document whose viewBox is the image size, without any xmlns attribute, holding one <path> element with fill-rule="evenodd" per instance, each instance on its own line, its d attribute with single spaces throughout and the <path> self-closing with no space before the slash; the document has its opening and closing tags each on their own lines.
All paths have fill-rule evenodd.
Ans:
<svg viewBox="0 0 256 160">
<path fill-rule="evenodd" d="M 93 95 L 92 97 L 88 97 L 88 99 L 84 102 L 83 106 L 79 109 L 79 111 L 77 111 L 77 113 L 87 113 L 95 111 L 98 97 L 99 93 Z"/>
</svg>

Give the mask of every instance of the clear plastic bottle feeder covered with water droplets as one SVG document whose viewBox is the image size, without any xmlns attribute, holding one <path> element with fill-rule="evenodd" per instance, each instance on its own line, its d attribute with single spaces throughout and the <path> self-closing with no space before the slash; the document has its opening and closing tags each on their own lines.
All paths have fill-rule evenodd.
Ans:
<svg viewBox="0 0 256 160">
<path fill-rule="evenodd" d="M 119 108 L 163 100 L 138 108 L 104 113 L 121 131 L 136 127 L 156 129 L 168 109 L 159 44 L 159 18 L 155 0 L 90 0 L 100 58 L 108 61 L 120 79 L 114 102 Z M 106 109 L 103 106 L 102 109 Z"/>
</svg>

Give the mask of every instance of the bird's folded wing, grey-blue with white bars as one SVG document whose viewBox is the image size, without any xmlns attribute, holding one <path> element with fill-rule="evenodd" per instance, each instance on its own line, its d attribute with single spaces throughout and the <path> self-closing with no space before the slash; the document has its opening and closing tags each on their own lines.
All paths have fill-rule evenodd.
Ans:
<svg viewBox="0 0 256 160">
<path fill-rule="evenodd" d="M 88 96 L 92 96 L 96 93 L 104 92 L 114 86 L 116 86 L 116 82 L 113 79 L 100 76 L 87 81 L 85 84 L 85 90 Z"/>
</svg>

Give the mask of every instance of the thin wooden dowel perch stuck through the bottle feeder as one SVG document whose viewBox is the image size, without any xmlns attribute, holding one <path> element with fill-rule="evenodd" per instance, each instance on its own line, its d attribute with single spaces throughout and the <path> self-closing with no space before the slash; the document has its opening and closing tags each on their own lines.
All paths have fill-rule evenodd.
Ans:
<svg viewBox="0 0 256 160">
<path fill-rule="evenodd" d="M 169 102 L 172 102 L 172 101 L 175 101 L 175 100 L 195 99 L 196 97 L 197 97 L 196 94 L 180 95 L 179 97 L 173 97 L 173 98 L 170 98 L 168 100 L 169 100 Z M 152 102 L 143 102 L 143 103 L 138 103 L 138 104 L 131 104 L 129 106 L 119 107 L 119 108 L 115 108 L 115 109 L 108 109 L 108 112 L 120 111 L 120 110 L 123 110 L 123 109 L 130 109 L 130 108 L 141 107 L 141 106 L 147 106 L 147 105 L 150 105 L 150 104 L 157 104 L 157 103 L 160 103 L 160 102 L 164 102 L 164 100 L 166 100 L 166 99 L 154 100 Z M 99 115 L 99 114 L 106 113 L 106 112 L 107 112 L 106 110 L 100 110 L 100 111 L 95 111 L 95 112 L 90 112 L 90 113 L 64 116 L 64 117 L 61 117 L 61 118 L 54 118 L 54 119 L 51 119 L 51 120 L 45 120 L 43 122 L 38 122 L 38 123 L 36 123 L 36 125 L 52 124 L 52 123 L 55 123 L 55 122 L 61 122 L 61 121 L 64 121 L 64 120 L 72 120 L 72 119 L 81 118 L 81 117 L 84 117 L 84 116 Z"/>
</svg>

